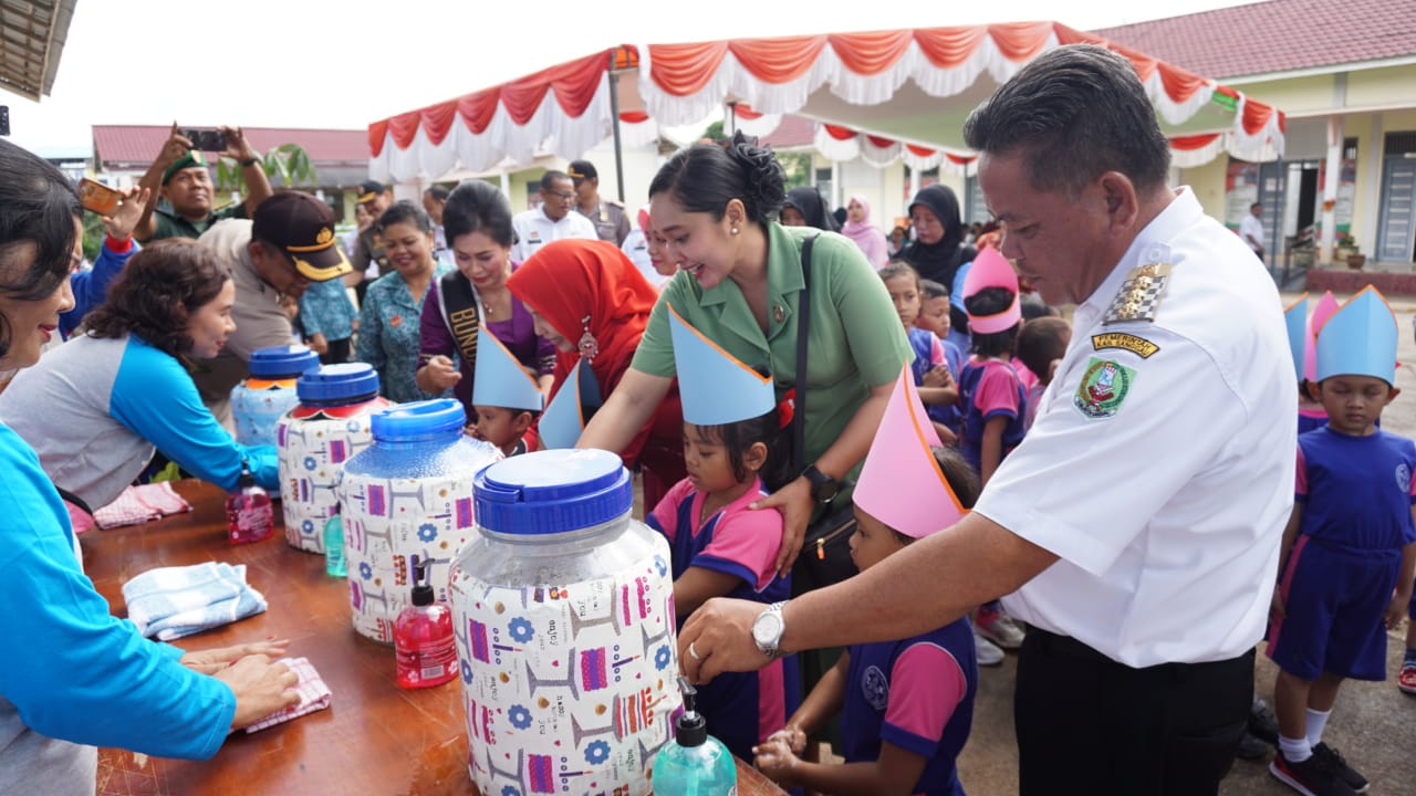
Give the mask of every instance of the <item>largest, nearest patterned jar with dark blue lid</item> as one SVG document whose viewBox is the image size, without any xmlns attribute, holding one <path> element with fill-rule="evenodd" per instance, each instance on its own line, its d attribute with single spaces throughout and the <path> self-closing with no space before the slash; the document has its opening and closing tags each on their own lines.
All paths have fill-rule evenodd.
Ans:
<svg viewBox="0 0 1416 796">
<path fill-rule="evenodd" d="M 481 793 L 649 793 L 681 707 L 674 584 L 619 456 L 515 456 L 474 496 L 449 584 L 469 775 Z"/>
</svg>

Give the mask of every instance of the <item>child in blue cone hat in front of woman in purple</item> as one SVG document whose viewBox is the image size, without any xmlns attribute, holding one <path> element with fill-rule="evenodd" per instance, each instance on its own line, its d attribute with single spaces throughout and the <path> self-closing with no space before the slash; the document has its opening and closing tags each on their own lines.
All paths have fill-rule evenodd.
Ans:
<svg viewBox="0 0 1416 796">
<path fill-rule="evenodd" d="M 527 452 L 525 433 L 545 401 L 535 378 L 501 340 L 477 330 L 477 363 L 472 404 L 477 412 L 473 436 L 496 445 L 503 456 Z"/>
</svg>

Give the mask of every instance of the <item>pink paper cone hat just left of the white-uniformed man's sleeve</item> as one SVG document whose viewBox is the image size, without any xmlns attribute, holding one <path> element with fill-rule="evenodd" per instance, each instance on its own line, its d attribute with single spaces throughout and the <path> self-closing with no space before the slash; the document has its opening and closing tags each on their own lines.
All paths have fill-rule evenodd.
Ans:
<svg viewBox="0 0 1416 796">
<path fill-rule="evenodd" d="M 905 365 L 871 442 L 871 452 L 865 455 L 855 484 L 855 506 L 913 538 L 957 523 L 969 511 L 950 489 L 930 446 L 942 446 L 939 433 L 929 422 L 915 391 L 913 375 Z"/>
</svg>

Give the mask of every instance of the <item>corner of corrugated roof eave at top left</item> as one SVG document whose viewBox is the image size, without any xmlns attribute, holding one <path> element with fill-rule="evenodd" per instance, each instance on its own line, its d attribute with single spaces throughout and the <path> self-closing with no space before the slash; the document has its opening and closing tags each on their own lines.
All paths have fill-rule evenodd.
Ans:
<svg viewBox="0 0 1416 796">
<path fill-rule="evenodd" d="M 0 0 L 0 88 L 35 102 L 54 89 L 75 0 Z"/>
</svg>

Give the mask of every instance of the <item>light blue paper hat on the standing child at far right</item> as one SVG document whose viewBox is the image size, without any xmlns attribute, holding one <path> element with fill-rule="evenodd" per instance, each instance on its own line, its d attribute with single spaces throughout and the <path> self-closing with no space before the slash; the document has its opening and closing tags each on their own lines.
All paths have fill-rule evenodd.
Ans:
<svg viewBox="0 0 1416 796">
<path fill-rule="evenodd" d="M 1371 375 L 1396 384 L 1396 314 L 1376 288 L 1348 299 L 1318 331 L 1318 381 Z"/>
</svg>

